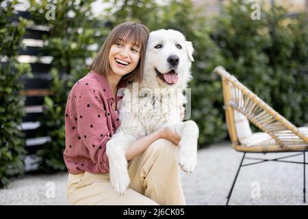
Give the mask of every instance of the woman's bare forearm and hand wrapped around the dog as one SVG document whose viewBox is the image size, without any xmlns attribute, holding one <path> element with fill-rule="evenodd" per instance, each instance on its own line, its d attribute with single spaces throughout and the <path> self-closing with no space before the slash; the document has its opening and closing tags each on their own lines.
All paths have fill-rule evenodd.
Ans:
<svg viewBox="0 0 308 219">
<path fill-rule="evenodd" d="M 159 138 L 166 138 L 166 140 L 173 142 L 175 145 L 179 145 L 179 142 L 181 140 L 181 138 L 177 133 L 175 133 L 175 131 L 171 131 L 168 128 L 159 129 L 158 131 L 155 131 L 148 136 L 144 136 L 136 140 L 136 142 L 131 143 L 125 154 L 126 160 L 129 161 L 133 159 L 133 157 L 136 157 L 137 155 L 145 151 L 148 146 L 150 146 L 150 144 L 152 144 Z"/>
</svg>

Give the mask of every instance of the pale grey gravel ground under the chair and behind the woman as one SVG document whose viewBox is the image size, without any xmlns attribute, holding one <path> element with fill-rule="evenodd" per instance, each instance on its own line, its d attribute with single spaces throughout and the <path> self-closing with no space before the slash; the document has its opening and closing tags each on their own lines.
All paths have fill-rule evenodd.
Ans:
<svg viewBox="0 0 308 219">
<path fill-rule="evenodd" d="M 290 153 L 248 155 L 273 158 Z M 187 204 L 225 205 L 241 158 L 242 153 L 231 149 L 229 142 L 199 150 L 197 169 L 192 174 L 181 172 Z M 302 162 L 303 156 L 287 160 Z M 8 188 L 0 190 L 0 205 L 68 205 L 66 179 L 67 174 L 64 172 L 25 175 L 14 179 Z M 49 193 L 53 186 L 54 197 Z M 243 167 L 229 205 L 304 205 L 303 165 L 266 162 Z"/>
</svg>

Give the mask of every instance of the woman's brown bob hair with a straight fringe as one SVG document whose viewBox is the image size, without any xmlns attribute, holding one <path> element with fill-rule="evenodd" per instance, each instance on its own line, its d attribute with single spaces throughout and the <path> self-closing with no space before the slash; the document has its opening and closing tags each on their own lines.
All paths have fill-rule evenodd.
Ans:
<svg viewBox="0 0 308 219">
<path fill-rule="evenodd" d="M 138 44 L 140 46 L 140 60 L 136 68 L 131 73 L 124 75 L 122 79 L 130 82 L 140 82 L 142 80 L 144 56 L 149 34 L 150 33 L 148 27 L 140 23 L 120 23 L 114 27 L 112 31 L 110 31 L 89 68 L 94 70 L 96 73 L 106 76 L 107 73 L 109 73 L 111 70 L 108 59 L 110 47 L 112 47 L 112 45 L 115 44 L 119 39 L 123 39 L 126 43 Z"/>
</svg>

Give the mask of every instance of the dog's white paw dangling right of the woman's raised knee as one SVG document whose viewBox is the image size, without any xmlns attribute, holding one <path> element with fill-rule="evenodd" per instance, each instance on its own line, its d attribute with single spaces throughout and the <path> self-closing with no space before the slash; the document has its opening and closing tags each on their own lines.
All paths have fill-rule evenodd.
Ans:
<svg viewBox="0 0 308 219">
<path fill-rule="evenodd" d="M 192 142 L 183 141 L 179 142 L 179 166 L 185 172 L 192 172 L 196 169 L 196 145 Z"/>
</svg>

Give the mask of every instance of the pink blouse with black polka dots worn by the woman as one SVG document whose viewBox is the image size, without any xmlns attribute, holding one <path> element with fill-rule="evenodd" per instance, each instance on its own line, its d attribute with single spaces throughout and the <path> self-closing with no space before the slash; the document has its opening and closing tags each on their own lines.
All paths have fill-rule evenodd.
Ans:
<svg viewBox="0 0 308 219">
<path fill-rule="evenodd" d="M 118 89 L 125 88 L 125 81 Z M 117 96 L 116 101 L 122 98 Z M 109 172 L 106 143 L 120 126 L 112 90 L 105 76 L 90 71 L 68 94 L 64 162 L 71 174 Z"/>
</svg>

